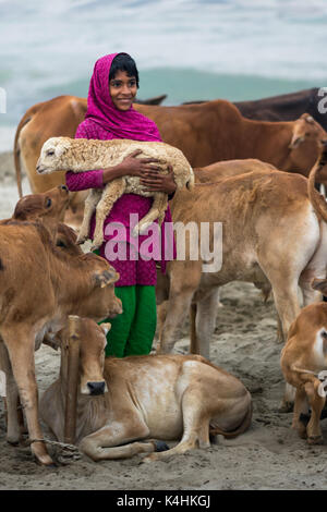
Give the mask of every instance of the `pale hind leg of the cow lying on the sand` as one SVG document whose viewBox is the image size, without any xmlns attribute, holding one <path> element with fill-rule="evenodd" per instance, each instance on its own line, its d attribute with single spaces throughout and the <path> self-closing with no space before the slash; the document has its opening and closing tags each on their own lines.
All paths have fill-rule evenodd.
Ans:
<svg viewBox="0 0 327 512">
<path fill-rule="evenodd" d="M 143 459 L 144 462 L 168 459 L 172 455 L 185 453 L 194 448 L 209 446 L 209 419 L 203 410 L 203 391 L 198 388 L 189 388 L 182 398 L 182 413 L 184 434 L 181 441 L 170 450 L 156 452 Z"/>
</svg>

